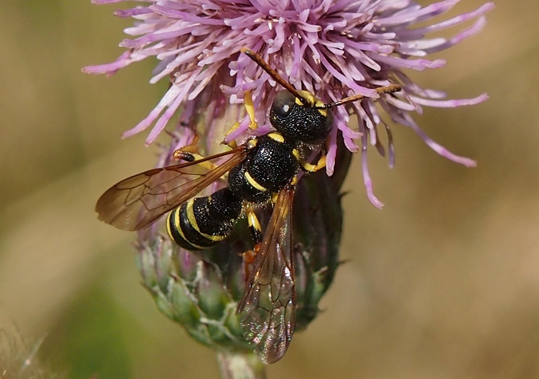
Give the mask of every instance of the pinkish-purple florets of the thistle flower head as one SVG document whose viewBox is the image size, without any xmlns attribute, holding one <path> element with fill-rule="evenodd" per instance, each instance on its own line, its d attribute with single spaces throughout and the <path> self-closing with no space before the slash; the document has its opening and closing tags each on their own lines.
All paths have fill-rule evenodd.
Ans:
<svg viewBox="0 0 539 379">
<path fill-rule="evenodd" d="M 93 0 L 95 4 L 120 3 L 121 0 Z M 113 63 L 84 68 L 87 73 L 113 74 L 135 61 L 155 56 L 160 62 L 150 82 L 169 78 L 171 86 L 150 114 L 124 136 L 139 133 L 154 125 L 146 142 L 153 142 L 183 109 L 182 120 L 190 120 L 204 98 L 218 99 L 213 112 L 222 112 L 228 101 L 241 102 L 251 90 L 257 120 L 264 125 L 266 113 L 276 92 L 275 83 L 248 57 L 243 47 L 257 51 L 297 89 L 307 89 L 323 101 L 336 101 L 353 94 L 371 99 L 335 109 L 335 122 L 328 143 L 327 173 L 333 174 L 337 134 L 350 151 L 362 151 L 362 171 L 370 201 L 382 203 L 372 194 L 367 168 L 367 147 L 384 154 L 378 138 L 381 124 L 388 133 L 388 154 L 393 166 L 393 142 L 389 126 L 382 120 L 373 88 L 400 84 L 403 91 L 380 99 L 384 111 L 401 125 L 412 128 L 438 154 L 475 166 L 466 157 L 455 155 L 430 139 L 412 119 L 422 106 L 457 107 L 487 99 L 442 100 L 445 93 L 423 89 L 404 73 L 439 68 L 445 60 L 429 60 L 427 54 L 451 47 L 478 33 L 485 25 L 485 13 L 494 4 L 426 26 L 414 27 L 451 9 L 459 0 L 444 0 L 420 6 L 409 0 L 179 0 L 144 1 L 141 6 L 115 11 L 119 17 L 133 17 L 136 23 L 125 32 L 134 38 L 120 46 L 128 50 Z M 149 4 L 148 4 L 149 3 Z M 429 33 L 455 26 L 469 19 L 475 23 L 450 39 L 428 38 Z M 216 91 L 217 89 L 217 91 Z M 204 97 L 212 91 L 213 97 Z M 228 95 L 228 100 L 223 96 Z M 241 113 L 241 112 L 240 112 Z M 350 114 L 358 126 L 350 126 Z M 239 114 L 240 127 L 229 139 L 245 137 L 248 118 Z M 212 128 L 211 118 L 205 130 Z M 266 125 L 267 128 L 267 125 Z M 267 130 L 262 128 L 262 130 Z"/>
</svg>

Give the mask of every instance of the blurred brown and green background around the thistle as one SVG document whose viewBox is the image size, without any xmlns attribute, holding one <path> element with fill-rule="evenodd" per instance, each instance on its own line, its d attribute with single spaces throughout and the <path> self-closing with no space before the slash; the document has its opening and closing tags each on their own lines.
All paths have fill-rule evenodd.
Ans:
<svg viewBox="0 0 539 379">
<path fill-rule="evenodd" d="M 462 1 L 452 15 L 481 3 Z M 120 134 L 165 87 L 148 84 L 150 60 L 110 79 L 80 72 L 122 52 L 131 21 L 113 10 L 89 0 L 3 2 L 0 309 L 16 327 L 0 327 L 29 349 L 44 337 L 42 362 L 65 377 L 215 378 L 213 352 L 139 285 L 134 236 L 93 211 L 109 185 L 153 166 L 146 134 Z M 296 334 L 270 378 L 539 377 L 537 15 L 537 1 L 499 1 L 479 36 L 434 57 L 446 68 L 413 73 L 451 98 L 488 92 L 484 104 L 416 116 L 479 166 L 446 161 L 394 127 L 396 168 L 374 153 L 369 161 L 379 211 L 356 157 L 345 184 L 348 263 L 325 312 Z"/>
</svg>

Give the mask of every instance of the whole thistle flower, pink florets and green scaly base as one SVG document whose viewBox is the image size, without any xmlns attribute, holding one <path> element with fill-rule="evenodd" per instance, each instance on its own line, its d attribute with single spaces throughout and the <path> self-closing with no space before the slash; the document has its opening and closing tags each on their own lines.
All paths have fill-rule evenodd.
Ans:
<svg viewBox="0 0 539 379">
<path fill-rule="evenodd" d="M 95 4 L 120 2 L 93 0 Z M 383 205 L 373 194 L 367 167 L 369 146 L 382 155 L 387 150 L 389 164 L 394 164 L 391 130 L 379 108 L 393 122 L 412 128 L 436 153 L 464 166 L 475 166 L 473 160 L 455 155 L 430 139 L 414 122 L 412 112 L 420 114 L 423 106 L 478 104 L 487 95 L 443 100 L 445 93 L 421 88 L 404 73 L 406 69 L 443 67 L 445 60 L 429 60 L 425 56 L 478 33 L 485 25 L 485 13 L 494 8 L 488 2 L 460 16 L 415 26 L 419 22 L 425 24 L 458 2 L 445 0 L 420 6 L 410 0 L 141 0 L 136 8 L 114 12 L 115 16 L 136 20 L 133 27 L 125 30 L 133 38 L 120 43 L 126 52 L 113 63 L 87 66 L 83 71 L 110 75 L 135 61 L 151 56 L 158 59 L 150 82 L 168 78 L 170 87 L 149 115 L 124 136 L 153 126 L 146 140 L 151 144 L 180 110 L 180 120 L 170 132 L 172 142 L 163 147 L 159 166 L 171 162 L 174 149 L 194 140 L 194 130 L 201 137 L 199 144 L 206 154 L 222 148 L 219 143 L 236 121 L 239 126 L 226 135 L 225 142 L 268 132 L 267 111 L 280 88 L 261 67 L 240 53 L 242 48 L 258 52 L 296 89 L 312 92 L 324 102 L 354 94 L 366 97 L 334 109 L 333 128 L 326 146 L 326 172 L 329 176 L 335 174 L 334 178 L 313 175 L 300 182 L 305 189 L 296 195 L 300 199 L 296 204 L 302 204 L 303 214 L 322 212 L 326 216 L 294 227 L 294 237 L 302 251 L 296 254 L 298 302 L 305 305 L 305 314 L 298 307 L 296 327 L 301 328 L 314 318 L 317 302 L 337 266 L 341 230 L 337 193 L 348 168 L 349 153 L 361 150 L 367 196 L 378 208 Z M 471 19 L 476 19 L 471 27 L 450 39 L 426 37 Z M 399 84 L 403 91 L 392 95 L 378 95 L 375 91 L 376 87 L 390 84 Z M 249 128 L 250 118 L 241 105 L 246 91 L 253 95 L 255 119 L 261 126 L 254 131 Z M 380 107 L 375 106 L 375 100 Z M 357 126 L 350 116 L 357 120 Z M 386 147 L 378 135 L 381 126 L 388 135 Z M 333 201 L 317 200 L 314 189 Z M 234 236 L 201 259 L 200 255 L 172 246 L 161 237 L 159 228 L 155 225 L 140 232 L 137 243 L 143 281 L 158 307 L 182 323 L 197 340 L 217 346 L 222 352 L 252 348 L 238 334 L 238 320 L 230 306 L 238 300 L 244 286 L 239 260 L 230 252 L 248 249 L 243 244 L 246 237 Z M 227 254 L 219 254 L 223 251 Z"/>
</svg>

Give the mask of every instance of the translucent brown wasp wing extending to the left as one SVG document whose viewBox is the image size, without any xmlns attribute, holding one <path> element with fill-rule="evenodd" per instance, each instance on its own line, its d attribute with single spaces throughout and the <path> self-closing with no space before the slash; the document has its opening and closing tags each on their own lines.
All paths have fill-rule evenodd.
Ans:
<svg viewBox="0 0 539 379">
<path fill-rule="evenodd" d="M 99 219 L 122 230 L 139 230 L 176 208 L 237 166 L 246 156 L 245 146 L 202 160 L 144 171 L 122 180 L 99 198 Z M 232 155 L 213 169 L 199 163 Z"/>
</svg>

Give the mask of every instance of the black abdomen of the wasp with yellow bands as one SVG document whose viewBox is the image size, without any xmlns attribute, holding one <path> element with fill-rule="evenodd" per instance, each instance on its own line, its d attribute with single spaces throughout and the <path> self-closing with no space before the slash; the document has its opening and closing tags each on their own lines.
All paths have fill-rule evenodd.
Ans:
<svg viewBox="0 0 539 379">
<path fill-rule="evenodd" d="M 204 250 L 230 235 L 241 215 L 241 199 L 230 188 L 196 197 L 169 213 L 167 230 L 184 249 Z"/>
</svg>

